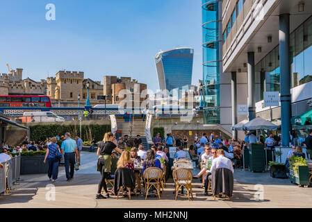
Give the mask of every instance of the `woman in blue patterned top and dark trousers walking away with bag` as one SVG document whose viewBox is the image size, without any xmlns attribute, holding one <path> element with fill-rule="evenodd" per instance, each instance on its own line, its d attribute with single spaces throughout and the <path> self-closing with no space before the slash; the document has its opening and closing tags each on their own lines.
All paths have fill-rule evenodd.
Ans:
<svg viewBox="0 0 312 222">
<path fill-rule="evenodd" d="M 48 176 L 51 182 L 55 182 L 58 178 L 58 163 L 62 160 L 62 154 L 60 154 L 60 147 L 56 144 L 57 139 L 53 137 L 51 144 L 47 147 L 47 153 L 44 157 L 44 163 L 49 163 Z"/>
</svg>

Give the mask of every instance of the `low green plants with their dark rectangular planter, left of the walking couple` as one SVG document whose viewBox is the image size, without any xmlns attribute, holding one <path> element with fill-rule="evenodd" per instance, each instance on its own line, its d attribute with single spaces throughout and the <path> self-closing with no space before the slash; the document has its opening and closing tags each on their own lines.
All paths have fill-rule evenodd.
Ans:
<svg viewBox="0 0 312 222">
<path fill-rule="evenodd" d="M 11 153 L 13 156 L 19 153 Z M 49 164 L 43 162 L 46 151 L 25 151 L 21 154 L 21 175 L 48 173 Z"/>
</svg>

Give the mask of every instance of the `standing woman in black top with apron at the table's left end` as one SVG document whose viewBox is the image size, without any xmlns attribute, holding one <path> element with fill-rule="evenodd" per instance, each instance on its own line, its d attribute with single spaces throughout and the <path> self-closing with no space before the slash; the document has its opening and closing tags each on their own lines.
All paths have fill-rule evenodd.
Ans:
<svg viewBox="0 0 312 222">
<path fill-rule="evenodd" d="M 110 155 L 112 155 L 114 150 L 122 153 L 120 148 L 117 148 L 115 145 L 113 138 L 113 133 L 106 133 L 104 140 L 99 144 L 99 148 L 97 149 L 97 155 L 99 156 L 99 160 L 97 160 L 97 171 L 101 172 L 101 180 L 99 180 L 99 187 L 97 189 L 97 199 L 106 199 L 109 197 L 105 179 L 110 175 Z M 101 195 L 102 188 L 105 190 L 106 197 Z"/>
</svg>

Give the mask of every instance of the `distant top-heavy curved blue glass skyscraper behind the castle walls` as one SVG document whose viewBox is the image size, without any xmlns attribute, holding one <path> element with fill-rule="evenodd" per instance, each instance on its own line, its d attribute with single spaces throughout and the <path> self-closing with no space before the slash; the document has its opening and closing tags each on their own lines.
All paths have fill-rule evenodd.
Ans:
<svg viewBox="0 0 312 222">
<path fill-rule="evenodd" d="M 192 64 L 194 49 L 181 47 L 161 51 L 155 56 L 159 89 L 172 89 L 192 83 Z"/>
</svg>

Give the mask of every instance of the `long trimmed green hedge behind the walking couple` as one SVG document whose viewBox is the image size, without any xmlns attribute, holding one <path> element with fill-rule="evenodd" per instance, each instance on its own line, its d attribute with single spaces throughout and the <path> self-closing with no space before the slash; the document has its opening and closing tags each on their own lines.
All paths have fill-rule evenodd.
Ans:
<svg viewBox="0 0 312 222">
<path fill-rule="evenodd" d="M 65 133 L 70 133 L 72 137 L 80 135 L 79 125 L 33 125 L 29 127 L 31 130 L 31 140 L 45 140 L 47 137 L 55 137 L 57 134 L 59 136 Z M 104 134 L 110 131 L 110 125 L 82 125 L 81 126 L 81 139 L 83 141 L 91 141 L 92 137 L 95 137 L 95 141 L 100 141 L 103 139 Z"/>
</svg>

